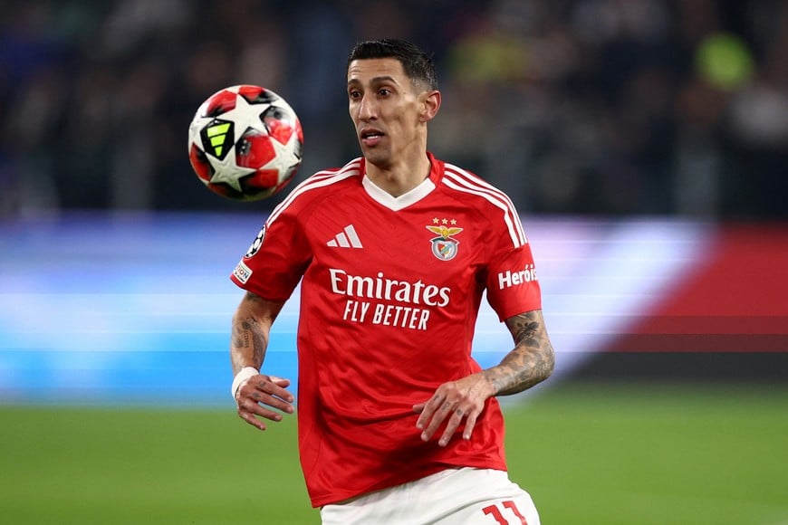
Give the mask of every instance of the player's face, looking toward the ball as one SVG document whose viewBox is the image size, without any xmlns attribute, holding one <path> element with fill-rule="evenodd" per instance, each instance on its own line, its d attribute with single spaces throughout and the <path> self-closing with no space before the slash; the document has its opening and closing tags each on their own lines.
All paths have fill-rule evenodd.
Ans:
<svg viewBox="0 0 788 525">
<path fill-rule="evenodd" d="M 351 62 L 351 119 L 368 161 L 385 169 L 400 157 L 424 155 L 426 135 L 420 115 L 427 92 L 413 85 L 397 59 Z"/>
</svg>

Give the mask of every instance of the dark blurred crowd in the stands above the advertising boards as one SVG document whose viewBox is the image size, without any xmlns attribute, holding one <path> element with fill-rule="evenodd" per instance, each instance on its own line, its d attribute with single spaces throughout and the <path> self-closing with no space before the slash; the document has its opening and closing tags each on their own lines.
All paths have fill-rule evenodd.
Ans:
<svg viewBox="0 0 788 525">
<path fill-rule="evenodd" d="M 303 123 L 297 176 L 359 155 L 353 43 L 434 53 L 439 157 L 525 213 L 788 219 L 783 0 L 0 0 L 0 217 L 244 210 L 187 159 L 229 85 Z M 280 197 L 281 198 L 281 197 Z"/>
</svg>

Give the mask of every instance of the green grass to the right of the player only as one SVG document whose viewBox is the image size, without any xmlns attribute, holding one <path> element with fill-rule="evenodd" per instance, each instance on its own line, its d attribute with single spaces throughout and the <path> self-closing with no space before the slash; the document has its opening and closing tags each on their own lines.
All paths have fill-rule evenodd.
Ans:
<svg viewBox="0 0 788 525">
<path fill-rule="evenodd" d="M 565 387 L 507 412 L 544 523 L 788 523 L 788 390 Z"/>
</svg>

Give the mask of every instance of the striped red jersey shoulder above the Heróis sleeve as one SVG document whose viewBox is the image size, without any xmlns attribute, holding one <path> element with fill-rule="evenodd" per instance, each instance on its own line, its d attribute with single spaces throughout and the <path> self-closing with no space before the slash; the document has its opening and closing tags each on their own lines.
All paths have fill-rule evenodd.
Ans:
<svg viewBox="0 0 788 525">
<path fill-rule="evenodd" d="M 441 186 L 463 205 L 476 209 L 491 226 L 505 230 L 514 248 L 528 242 L 512 199 L 482 177 L 445 162 Z"/>
</svg>

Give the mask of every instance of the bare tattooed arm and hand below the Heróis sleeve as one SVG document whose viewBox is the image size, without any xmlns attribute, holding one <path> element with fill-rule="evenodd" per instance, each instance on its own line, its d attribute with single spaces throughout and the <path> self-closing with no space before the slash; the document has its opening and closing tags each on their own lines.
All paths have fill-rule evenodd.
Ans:
<svg viewBox="0 0 788 525">
<path fill-rule="evenodd" d="M 423 441 L 429 441 L 447 421 L 446 430 L 438 440 L 440 446 L 446 446 L 463 420 L 463 439 L 470 439 L 487 398 L 522 392 L 553 373 L 555 352 L 547 336 L 542 310 L 510 317 L 506 327 L 514 338 L 514 348 L 498 365 L 444 383 L 427 402 L 413 406 L 419 414 L 416 426 L 422 430 Z"/>
</svg>

